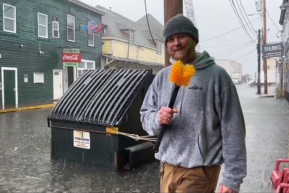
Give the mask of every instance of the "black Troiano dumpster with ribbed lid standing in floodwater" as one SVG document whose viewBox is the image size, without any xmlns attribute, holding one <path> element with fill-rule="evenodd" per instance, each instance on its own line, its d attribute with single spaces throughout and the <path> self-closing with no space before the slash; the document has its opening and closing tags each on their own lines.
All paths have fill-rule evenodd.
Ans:
<svg viewBox="0 0 289 193">
<path fill-rule="evenodd" d="M 109 170 L 152 158 L 152 142 L 117 134 L 147 135 L 139 109 L 152 76 L 152 69 L 85 70 L 47 117 L 51 158 Z"/>
</svg>

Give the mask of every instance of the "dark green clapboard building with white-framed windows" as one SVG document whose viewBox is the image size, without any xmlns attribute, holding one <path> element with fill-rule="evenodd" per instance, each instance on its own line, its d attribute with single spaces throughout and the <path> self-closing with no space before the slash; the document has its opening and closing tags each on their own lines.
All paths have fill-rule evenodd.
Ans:
<svg viewBox="0 0 289 193">
<path fill-rule="evenodd" d="M 78 0 L 0 2 L 0 107 L 57 100 L 84 69 L 101 68 L 101 30 L 87 26 L 106 12 Z M 72 49 L 78 67 L 62 62 Z"/>
</svg>

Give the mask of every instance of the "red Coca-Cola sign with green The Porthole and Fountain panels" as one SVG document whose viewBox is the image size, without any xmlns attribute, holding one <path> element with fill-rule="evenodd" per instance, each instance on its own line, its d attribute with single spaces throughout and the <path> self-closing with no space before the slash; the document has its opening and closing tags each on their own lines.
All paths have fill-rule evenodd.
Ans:
<svg viewBox="0 0 289 193">
<path fill-rule="evenodd" d="M 78 67 L 79 62 L 81 62 L 79 49 L 63 49 L 61 61 L 63 62 L 63 66 Z"/>
</svg>

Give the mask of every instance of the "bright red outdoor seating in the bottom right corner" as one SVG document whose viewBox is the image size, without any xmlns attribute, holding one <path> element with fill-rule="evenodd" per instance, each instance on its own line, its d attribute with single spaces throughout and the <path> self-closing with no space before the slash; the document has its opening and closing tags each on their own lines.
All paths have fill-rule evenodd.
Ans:
<svg viewBox="0 0 289 193">
<path fill-rule="evenodd" d="M 277 159 L 274 171 L 271 172 L 274 192 L 289 192 L 289 168 L 282 168 L 280 171 L 280 164 L 284 162 L 289 162 L 289 159 Z"/>
</svg>

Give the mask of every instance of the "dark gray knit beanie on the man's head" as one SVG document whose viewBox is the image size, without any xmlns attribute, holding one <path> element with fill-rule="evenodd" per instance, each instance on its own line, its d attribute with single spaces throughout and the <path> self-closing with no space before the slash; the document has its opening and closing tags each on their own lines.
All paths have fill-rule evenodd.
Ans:
<svg viewBox="0 0 289 193">
<path fill-rule="evenodd" d="M 170 18 L 166 23 L 163 31 L 165 46 L 167 46 L 168 38 L 175 34 L 187 34 L 196 41 L 196 45 L 199 42 L 198 29 L 193 22 L 188 17 L 183 16 L 183 14 L 178 14 L 175 17 Z"/>
</svg>

